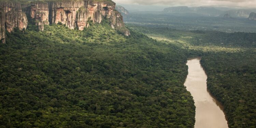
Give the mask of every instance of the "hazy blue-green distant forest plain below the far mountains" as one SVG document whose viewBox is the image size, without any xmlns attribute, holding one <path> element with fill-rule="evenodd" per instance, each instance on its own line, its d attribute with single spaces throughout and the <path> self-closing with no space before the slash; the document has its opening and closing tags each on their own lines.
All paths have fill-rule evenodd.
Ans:
<svg viewBox="0 0 256 128">
<path fill-rule="evenodd" d="M 201 16 L 193 13 L 166 14 L 162 11 L 130 12 L 124 17 L 126 23 L 153 28 L 172 28 L 179 30 L 256 32 L 256 21 L 247 18 L 223 18 L 223 16 Z"/>
</svg>

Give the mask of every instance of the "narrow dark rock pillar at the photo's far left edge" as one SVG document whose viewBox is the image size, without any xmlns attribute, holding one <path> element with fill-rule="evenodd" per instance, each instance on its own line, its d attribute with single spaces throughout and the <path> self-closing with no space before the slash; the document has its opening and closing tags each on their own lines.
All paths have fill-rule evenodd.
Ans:
<svg viewBox="0 0 256 128">
<path fill-rule="evenodd" d="M 0 8 L 0 43 L 5 43 L 5 11 Z"/>
</svg>

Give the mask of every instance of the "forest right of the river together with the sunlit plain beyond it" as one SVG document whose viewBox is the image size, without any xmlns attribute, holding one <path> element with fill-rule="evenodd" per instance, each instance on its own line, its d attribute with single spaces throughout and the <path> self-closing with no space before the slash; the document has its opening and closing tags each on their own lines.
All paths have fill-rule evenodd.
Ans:
<svg viewBox="0 0 256 128">
<path fill-rule="evenodd" d="M 190 56 L 202 56 L 208 88 L 223 104 L 229 127 L 256 126 L 256 33 L 128 26 Z"/>
</svg>

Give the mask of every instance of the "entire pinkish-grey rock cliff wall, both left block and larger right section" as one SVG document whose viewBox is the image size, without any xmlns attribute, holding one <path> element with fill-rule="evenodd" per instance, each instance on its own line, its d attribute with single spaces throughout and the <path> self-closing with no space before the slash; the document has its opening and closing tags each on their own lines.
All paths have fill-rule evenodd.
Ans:
<svg viewBox="0 0 256 128">
<path fill-rule="evenodd" d="M 32 1 L 0 2 L 0 39 L 5 43 L 5 29 L 12 32 L 14 28 L 26 29 L 28 19 L 26 13 L 35 19 L 40 31 L 44 25 L 65 24 L 68 28 L 83 30 L 89 22 L 101 23 L 108 20 L 110 26 L 124 35 L 130 35 L 125 28 L 122 15 L 115 11 L 115 3 L 109 0 L 56 0 L 50 2 Z M 22 11 L 23 10 L 23 11 Z"/>
</svg>

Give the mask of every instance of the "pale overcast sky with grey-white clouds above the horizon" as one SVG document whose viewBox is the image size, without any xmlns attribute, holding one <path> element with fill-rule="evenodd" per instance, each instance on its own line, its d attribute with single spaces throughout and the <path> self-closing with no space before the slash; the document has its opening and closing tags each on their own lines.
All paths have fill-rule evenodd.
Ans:
<svg viewBox="0 0 256 128">
<path fill-rule="evenodd" d="M 256 0 L 113 0 L 122 4 L 168 6 L 227 6 L 256 8 Z"/>
</svg>

